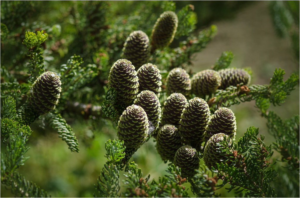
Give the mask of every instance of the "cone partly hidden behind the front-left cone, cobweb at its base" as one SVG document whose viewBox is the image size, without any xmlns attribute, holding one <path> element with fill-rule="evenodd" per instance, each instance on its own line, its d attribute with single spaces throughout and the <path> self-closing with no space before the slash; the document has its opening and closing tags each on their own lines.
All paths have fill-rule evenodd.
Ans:
<svg viewBox="0 0 300 198">
<path fill-rule="evenodd" d="M 154 92 L 149 90 L 142 91 L 134 100 L 134 104 L 141 106 L 147 114 L 148 121 L 155 127 L 152 133 L 155 134 L 161 122 L 161 103 Z"/>
</svg>

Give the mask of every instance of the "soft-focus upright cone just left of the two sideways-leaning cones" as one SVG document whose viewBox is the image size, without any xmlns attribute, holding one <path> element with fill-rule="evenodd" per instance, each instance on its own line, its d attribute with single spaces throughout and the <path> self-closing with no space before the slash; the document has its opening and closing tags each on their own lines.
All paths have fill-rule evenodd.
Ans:
<svg viewBox="0 0 300 198">
<path fill-rule="evenodd" d="M 190 75 L 182 68 L 172 69 L 167 76 L 167 94 L 182 93 L 185 96 L 190 94 Z"/>
</svg>

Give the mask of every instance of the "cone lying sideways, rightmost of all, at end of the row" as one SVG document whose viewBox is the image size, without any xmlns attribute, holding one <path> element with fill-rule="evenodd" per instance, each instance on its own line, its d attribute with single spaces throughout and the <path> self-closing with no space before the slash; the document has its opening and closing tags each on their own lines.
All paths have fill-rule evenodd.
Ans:
<svg viewBox="0 0 300 198">
<path fill-rule="evenodd" d="M 237 86 L 240 83 L 248 85 L 250 83 L 251 76 L 244 69 L 227 68 L 219 70 L 222 78 L 222 83 L 219 89 L 226 89 L 229 86 Z"/>
</svg>

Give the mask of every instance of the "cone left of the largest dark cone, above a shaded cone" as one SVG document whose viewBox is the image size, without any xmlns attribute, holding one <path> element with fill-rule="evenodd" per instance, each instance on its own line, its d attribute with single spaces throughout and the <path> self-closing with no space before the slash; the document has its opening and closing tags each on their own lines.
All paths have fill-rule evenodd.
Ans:
<svg viewBox="0 0 300 198">
<path fill-rule="evenodd" d="M 173 124 L 176 127 L 179 127 L 180 116 L 182 114 L 182 110 L 186 105 L 187 99 L 183 94 L 171 94 L 164 102 L 164 107 L 162 108 L 161 124 Z"/>
</svg>

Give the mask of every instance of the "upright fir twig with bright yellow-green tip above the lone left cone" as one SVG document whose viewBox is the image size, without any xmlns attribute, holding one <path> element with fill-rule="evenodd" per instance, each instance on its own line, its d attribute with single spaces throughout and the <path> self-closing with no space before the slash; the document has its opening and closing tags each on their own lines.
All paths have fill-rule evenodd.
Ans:
<svg viewBox="0 0 300 198">
<path fill-rule="evenodd" d="M 33 83 L 38 76 L 45 72 L 44 57 L 40 46 L 47 38 L 48 34 L 44 31 L 37 31 L 36 34 L 29 31 L 25 33 L 22 43 L 26 45 L 27 56 L 30 58 L 28 63 L 29 83 Z"/>
</svg>

